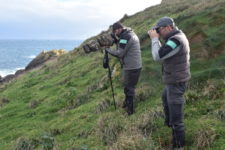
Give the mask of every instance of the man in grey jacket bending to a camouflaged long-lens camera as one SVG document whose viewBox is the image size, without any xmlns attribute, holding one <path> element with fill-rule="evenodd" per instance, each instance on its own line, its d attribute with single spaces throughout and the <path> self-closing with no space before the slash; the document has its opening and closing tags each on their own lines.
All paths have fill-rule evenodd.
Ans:
<svg viewBox="0 0 225 150">
<path fill-rule="evenodd" d="M 118 38 L 117 49 L 107 48 L 106 51 L 121 61 L 125 94 L 123 108 L 131 115 L 134 113 L 135 86 L 142 68 L 140 42 L 133 30 L 119 22 L 113 24 L 112 33 Z"/>
</svg>

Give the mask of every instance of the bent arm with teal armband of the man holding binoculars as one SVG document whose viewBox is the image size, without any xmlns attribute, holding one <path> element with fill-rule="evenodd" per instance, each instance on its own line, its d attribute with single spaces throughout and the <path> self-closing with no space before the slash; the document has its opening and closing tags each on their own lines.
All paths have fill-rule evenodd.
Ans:
<svg viewBox="0 0 225 150">
<path fill-rule="evenodd" d="M 162 61 L 172 57 L 179 52 L 181 48 L 180 42 L 175 39 L 169 39 L 163 46 L 158 38 L 152 39 L 152 56 L 155 61 Z"/>
</svg>

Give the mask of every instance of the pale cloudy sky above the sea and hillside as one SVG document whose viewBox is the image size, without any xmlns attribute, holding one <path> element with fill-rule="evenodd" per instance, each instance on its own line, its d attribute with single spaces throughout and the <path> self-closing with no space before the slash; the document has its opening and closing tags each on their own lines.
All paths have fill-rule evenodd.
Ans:
<svg viewBox="0 0 225 150">
<path fill-rule="evenodd" d="M 161 0 L 0 0 L 0 39 L 86 39 Z"/>
</svg>

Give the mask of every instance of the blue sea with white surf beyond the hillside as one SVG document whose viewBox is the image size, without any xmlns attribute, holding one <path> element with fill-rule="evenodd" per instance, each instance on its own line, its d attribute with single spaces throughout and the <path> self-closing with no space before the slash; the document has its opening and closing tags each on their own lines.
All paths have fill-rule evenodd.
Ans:
<svg viewBox="0 0 225 150">
<path fill-rule="evenodd" d="M 0 76 L 25 68 L 43 50 L 73 50 L 81 40 L 0 40 Z"/>
</svg>

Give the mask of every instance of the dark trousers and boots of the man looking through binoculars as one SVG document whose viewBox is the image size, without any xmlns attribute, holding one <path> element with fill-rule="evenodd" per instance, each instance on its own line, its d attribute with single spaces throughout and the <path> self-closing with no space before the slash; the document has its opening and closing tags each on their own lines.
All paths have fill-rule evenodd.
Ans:
<svg viewBox="0 0 225 150">
<path fill-rule="evenodd" d="M 172 128 L 174 148 L 180 148 L 185 145 L 183 95 L 186 85 L 186 82 L 167 84 L 162 94 L 165 124 Z"/>
</svg>

